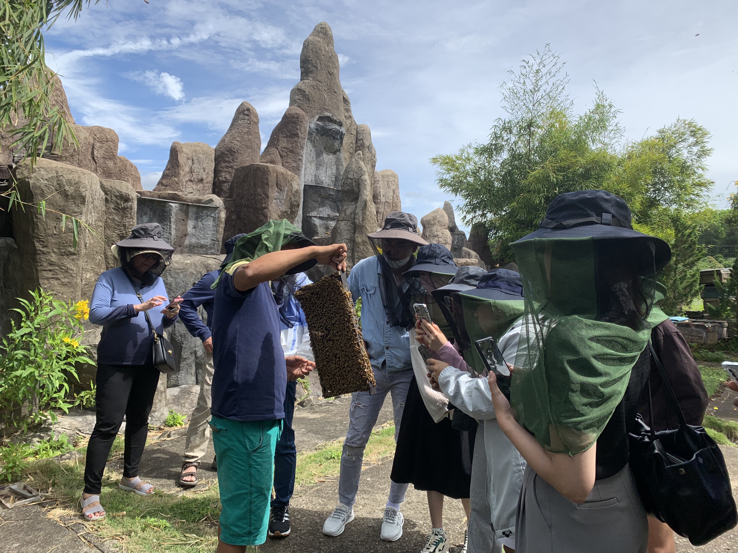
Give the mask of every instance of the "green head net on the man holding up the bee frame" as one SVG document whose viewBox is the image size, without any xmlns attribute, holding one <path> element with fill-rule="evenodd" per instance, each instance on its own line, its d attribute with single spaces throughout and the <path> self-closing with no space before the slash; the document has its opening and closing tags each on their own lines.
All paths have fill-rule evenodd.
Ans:
<svg viewBox="0 0 738 553">
<path fill-rule="evenodd" d="M 264 254 L 270 254 L 272 251 L 280 251 L 287 244 L 297 244 L 300 248 L 306 246 L 314 246 L 315 243 L 309 240 L 297 226 L 294 226 L 286 219 L 274 220 L 270 219 L 268 223 L 260 226 L 249 234 L 244 234 L 233 247 L 233 254 L 224 260 L 221 269 L 232 274 L 238 265 L 251 262 Z M 297 267 L 293 267 L 287 274 L 296 274 L 313 268 L 317 260 L 308 260 Z M 216 288 L 221 277 L 218 276 L 213 282 L 211 288 Z"/>
</svg>

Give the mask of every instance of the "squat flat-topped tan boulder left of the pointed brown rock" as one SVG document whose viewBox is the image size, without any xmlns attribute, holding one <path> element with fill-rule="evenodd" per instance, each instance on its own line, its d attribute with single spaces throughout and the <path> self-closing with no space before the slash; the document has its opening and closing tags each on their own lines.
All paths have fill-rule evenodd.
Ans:
<svg viewBox="0 0 738 553">
<path fill-rule="evenodd" d="M 184 196 L 213 193 L 215 150 L 204 142 L 172 142 L 169 161 L 155 192 L 179 192 Z"/>
</svg>

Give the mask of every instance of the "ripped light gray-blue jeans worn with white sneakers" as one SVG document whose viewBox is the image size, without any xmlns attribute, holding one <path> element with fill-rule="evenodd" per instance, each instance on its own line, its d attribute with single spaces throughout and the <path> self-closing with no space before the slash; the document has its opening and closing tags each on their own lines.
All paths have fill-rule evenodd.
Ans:
<svg viewBox="0 0 738 553">
<path fill-rule="evenodd" d="M 359 479 L 362 476 L 362 462 L 364 448 L 369 441 L 371 431 L 379 417 L 379 411 L 384 404 L 387 394 L 392 394 L 392 408 L 395 419 L 395 441 L 400 431 L 402 411 L 405 408 L 407 389 L 410 380 L 413 380 L 413 369 L 404 371 L 387 371 L 372 367 L 376 380 L 376 393 L 354 392 L 351 394 L 351 408 L 348 411 L 348 432 L 343 443 L 341 455 L 341 474 L 338 479 L 338 498 L 346 507 L 353 507 L 356 502 L 356 492 L 359 491 Z M 405 500 L 407 484 L 397 484 L 390 481 L 389 501 L 402 503 Z"/>
</svg>

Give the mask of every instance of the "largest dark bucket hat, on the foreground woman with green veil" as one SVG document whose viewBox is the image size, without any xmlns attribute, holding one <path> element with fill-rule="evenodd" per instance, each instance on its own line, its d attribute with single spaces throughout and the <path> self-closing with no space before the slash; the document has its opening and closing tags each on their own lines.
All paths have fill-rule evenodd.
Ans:
<svg viewBox="0 0 738 553">
<path fill-rule="evenodd" d="M 630 208 L 622 198 L 606 190 L 578 190 L 559 194 L 548 206 L 540 228 L 520 238 L 588 238 L 594 240 L 635 240 L 646 246 L 655 246 L 654 262 L 657 271 L 672 258 L 669 244 L 633 230 Z M 517 243 L 514 242 L 514 243 Z"/>
</svg>

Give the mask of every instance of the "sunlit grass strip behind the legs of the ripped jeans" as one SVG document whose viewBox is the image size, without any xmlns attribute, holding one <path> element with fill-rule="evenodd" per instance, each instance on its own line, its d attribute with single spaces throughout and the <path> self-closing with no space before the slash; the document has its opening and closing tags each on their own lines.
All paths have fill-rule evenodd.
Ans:
<svg viewBox="0 0 738 553">
<path fill-rule="evenodd" d="M 316 484 L 338 476 L 343 439 L 328 442 L 317 451 L 297 453 L 295 487 Z M 375 428 L 364 451 L 364 467 L 376 465 L 395 453 L 395 425 Z"/>
</svg>

